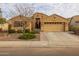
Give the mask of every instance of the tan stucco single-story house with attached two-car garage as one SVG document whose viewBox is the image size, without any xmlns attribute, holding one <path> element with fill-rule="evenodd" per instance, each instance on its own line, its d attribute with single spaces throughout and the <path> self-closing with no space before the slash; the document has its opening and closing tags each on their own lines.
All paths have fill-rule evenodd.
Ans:
<svg viewBox="0 0 79 59">
<path fill-rule="evenodd" d="M 69 20 L 59 15 L 53 14 L 51 16 L 35 13 L 32 17 L 16 16 L 8 21 L 12 29 L 22 30 L 23 25 L 30 31 L 68 31 Z"/>
</svg>

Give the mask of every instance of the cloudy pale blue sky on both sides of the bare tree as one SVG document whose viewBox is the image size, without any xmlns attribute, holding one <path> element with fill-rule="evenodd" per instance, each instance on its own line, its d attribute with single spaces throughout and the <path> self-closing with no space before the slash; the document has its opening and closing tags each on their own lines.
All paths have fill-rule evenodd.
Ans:
<svg viewBox="0 0 79 59">
<path fill-rule="evenodd" d="M 3 11 L 3 16 L 9 14 L 9 9 L 13 9 L 15 4 L 2 4 L 0 7 Z M 65 18 L 70 18 L 75 15 L 79 15 L 79 4 L 78 3 L 35 3 L 35 12 L 44 13 L 47 15 L 58 14 Z M 9 16 L 11 18 L 11 16 Z"/>
</svg>

